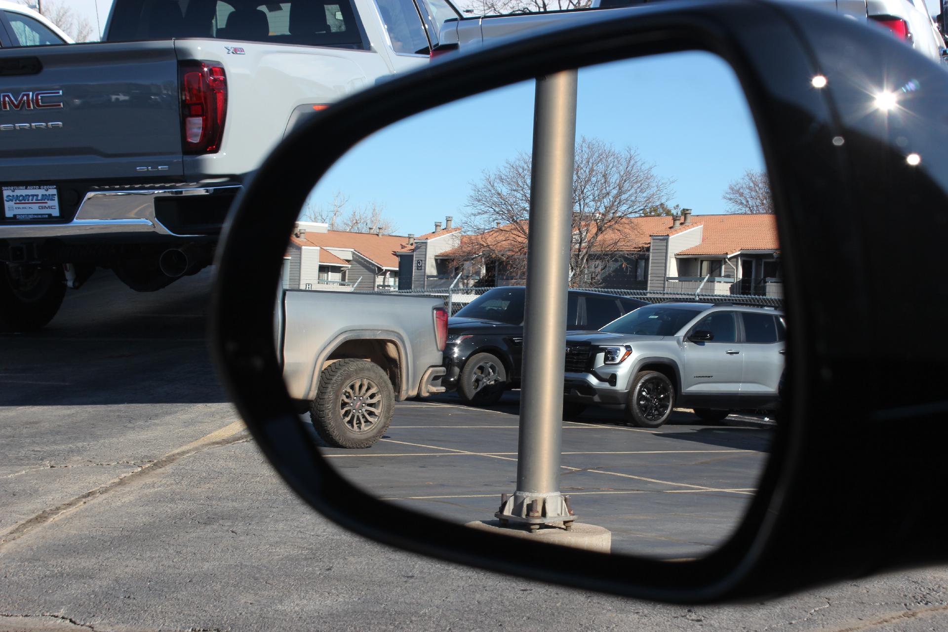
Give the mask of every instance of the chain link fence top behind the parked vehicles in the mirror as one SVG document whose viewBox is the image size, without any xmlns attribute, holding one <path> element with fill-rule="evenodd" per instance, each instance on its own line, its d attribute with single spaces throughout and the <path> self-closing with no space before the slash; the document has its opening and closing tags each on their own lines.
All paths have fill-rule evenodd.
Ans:
<svg viewBox="0 0 948 632">
<path fill-rule="evenodd" d="M 402 294 L 421 297 L 444 298 L 445 304 L 450 308 L 451 316 L 461 311 L 465 305 L 475 298 L 480 297 L 485 292 L 492 290 L 492 287 L 445 287 L 437 289 L 413 289 L 413 290 L 374 290 L 370 294 Z M 698 294 L 689 292 L 649 292 L 647 290 L 624 290 L 603 287 L 576 287 L 574 290 L 583 292 L 597 292 L 600 294 L 611 294 L 619 297 L 638 298 L 649 303 L 666 303 L 672 301 L 685 302 L 704 302 L 704 303 L 734 303 L 737 305 L 749 305 L 753 307 L 773 307 L 780 309 L 783 307 L 783 298 L 764 297 L 758 295 L 737 295 L 737 294 Z"/>
</svg>

